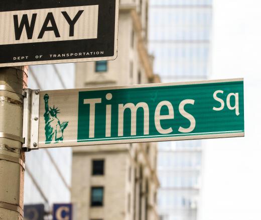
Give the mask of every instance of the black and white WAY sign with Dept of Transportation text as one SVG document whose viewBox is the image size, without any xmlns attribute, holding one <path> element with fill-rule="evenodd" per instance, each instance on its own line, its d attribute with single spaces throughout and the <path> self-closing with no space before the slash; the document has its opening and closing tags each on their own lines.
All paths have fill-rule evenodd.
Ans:
<svg viewBox="0 0 261 220">
<path fill-rule="evenodd" d="M 0 67 L 113 60 L 118 0 L 1 0 Z"/>
</svg>

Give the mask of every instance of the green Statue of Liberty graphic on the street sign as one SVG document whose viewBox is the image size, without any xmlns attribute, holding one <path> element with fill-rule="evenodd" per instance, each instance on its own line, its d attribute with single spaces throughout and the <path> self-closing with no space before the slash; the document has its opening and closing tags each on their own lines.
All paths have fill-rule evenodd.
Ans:
<svg viewBox="0 0 261 220">
<path fill-rule="evenodd" d="M 57 114 L 59 114 L 60 110 L 58 107 L 53 107 L 49 109 L 48 105 L 49 95 L 44 95 L 45 100 L 45 137 L 46 137 L 46 144 L 58 143 L 59 141 L 63 141 L 63 131 L 68 126 L 69 122 L 60 123 L 60 120 L 57 118 Z"/>
</svg>

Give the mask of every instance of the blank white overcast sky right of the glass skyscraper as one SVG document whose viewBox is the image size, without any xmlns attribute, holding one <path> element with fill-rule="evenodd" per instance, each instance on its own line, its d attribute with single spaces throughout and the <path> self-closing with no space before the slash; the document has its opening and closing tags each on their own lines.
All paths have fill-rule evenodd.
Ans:
<svg viewBox="0 0 261 220">
<path fill-rule="evenodd" d="M 204 141 L 199 220 L 261 219 L 261 1 L 213 7 L 211 78 L 244 78 L 245 137 Z"/>
</svg>

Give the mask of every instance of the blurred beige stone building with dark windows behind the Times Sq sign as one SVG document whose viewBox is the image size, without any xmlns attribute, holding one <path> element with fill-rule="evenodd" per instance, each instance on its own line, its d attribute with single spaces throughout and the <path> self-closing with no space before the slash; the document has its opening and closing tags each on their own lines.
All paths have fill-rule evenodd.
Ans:
<svg viewBox="0 0 261 220">
<path fill-rule="evenodd" d="M 118 57 L 76 64 L 76 87 L 158 82 L 147 51 L 148 1 L 121 0 Z M 76 219 L 158 220 L 157 144 L 73 149 Z"/>
</svg>

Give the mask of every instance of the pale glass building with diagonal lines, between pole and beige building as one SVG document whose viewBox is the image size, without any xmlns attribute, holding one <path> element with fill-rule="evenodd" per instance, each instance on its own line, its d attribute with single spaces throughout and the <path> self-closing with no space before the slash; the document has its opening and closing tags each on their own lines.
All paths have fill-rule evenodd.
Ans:
<svg viewBox="0 0 261 220">
<path fill-rule="evenodd" d="M 75 65 L 71 63 L 30 66 L 28 87 L 41 90 L 73 88 L 74 78 Z M 25 205 L 44 204 L 45 211 L 51 213 L 53 203 L 70 202 L 71 164 L 70 148 L 26 153 Z M 46 214 L 45 219 L 52 218 Z"/>
</svg>

